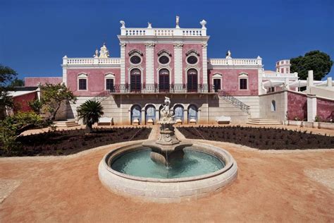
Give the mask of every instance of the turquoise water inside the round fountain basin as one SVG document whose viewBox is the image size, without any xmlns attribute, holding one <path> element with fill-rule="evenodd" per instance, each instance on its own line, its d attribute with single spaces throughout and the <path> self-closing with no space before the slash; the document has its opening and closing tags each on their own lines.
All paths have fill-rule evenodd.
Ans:
<svg viewBox="0 0 334 223">
<path fill-rule="evenodd" d="M 209 174 L 225 167 L 223 161 L 212 155 L 189 148 L 183 151 L 183 160 L 175 160 L 169 167 L 153 162 L 151 149 L 144 149 L 119 157 L 111 164 L 111 168 L 132 176 L 172 179 Z"/>
</svg>

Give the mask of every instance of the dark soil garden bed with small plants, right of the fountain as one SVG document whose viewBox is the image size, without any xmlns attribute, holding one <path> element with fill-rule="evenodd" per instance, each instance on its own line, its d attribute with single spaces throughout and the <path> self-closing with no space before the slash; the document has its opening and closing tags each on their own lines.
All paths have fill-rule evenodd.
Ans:
<svg viewBox="0 0 334 223">
<path fill-rule="evenodd" d="M 185 138 L 214 140 L 254 147 L 259 150 L 306 150 L 334 148 L 334 137 L 286 128 L 243 126 L 178 127 Z"/>
</svg>

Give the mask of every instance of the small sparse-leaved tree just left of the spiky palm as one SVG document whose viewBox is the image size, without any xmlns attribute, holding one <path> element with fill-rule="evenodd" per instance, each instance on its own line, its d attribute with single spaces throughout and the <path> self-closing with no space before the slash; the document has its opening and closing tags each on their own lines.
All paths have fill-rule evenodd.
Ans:
<svg viewBox="0 0 334 223">
<path fill-rule="evenodd" d="M 66 88 L 66 85 L 63 83 L 56 85 L 47 83 L 46 85 L 41 85 L 40 89 L 43 104 L 42 109 L 49 112 L 49 119 L 51 120 L 56 118 L 61 103 L 75 103 L 77 101 L 77 97 L 75 97 L 73 92 Z"/>
</svg>

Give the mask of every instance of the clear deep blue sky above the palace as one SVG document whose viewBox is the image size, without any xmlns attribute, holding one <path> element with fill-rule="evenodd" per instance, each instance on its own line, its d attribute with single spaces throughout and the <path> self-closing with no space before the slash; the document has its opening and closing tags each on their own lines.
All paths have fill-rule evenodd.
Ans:
<svg viewBox="0 0 334 223">
<path fill-rule="evenodd" d="M 19 78 L 61 76 L 62 57 L 91 57 L 106 42 L 119 56 L 119 20 L 127 27 L 200 28 L 207 21 L 208 56 L 261 56 L 275 62 L 319 49 L 334 60 L 334 1 L 54 1 L 0 0 L 0 64 Z M 329 76 L 334 77 L 334 68 Z"/>
</svg>

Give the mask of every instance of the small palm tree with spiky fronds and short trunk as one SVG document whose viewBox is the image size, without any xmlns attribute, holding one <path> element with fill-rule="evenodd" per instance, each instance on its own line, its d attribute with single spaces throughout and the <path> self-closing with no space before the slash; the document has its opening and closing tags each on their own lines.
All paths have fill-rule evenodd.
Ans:
<svg viewBox="0 0 334 223">
<path fill-rule="evenodd" d="M 88 100 L 78 107 L 78 118 L 82 119 L 86 124 L 86 129 L 89 133 L 93 131 L 93 124 L 99 121 L 99 118 L 104 114 L 103 107 L 100 102 Z"/>
</svg>

